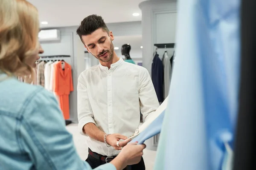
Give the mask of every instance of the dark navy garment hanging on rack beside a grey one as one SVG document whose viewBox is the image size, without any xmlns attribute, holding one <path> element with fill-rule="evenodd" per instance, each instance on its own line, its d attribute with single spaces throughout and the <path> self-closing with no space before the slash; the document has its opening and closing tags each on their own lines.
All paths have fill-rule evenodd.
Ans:
<svg viewBox="0 0 256 170">
<path fill-rule="evenodd" d="M 152 62 L 151 77 L 159 102 L 163 102 L 163 62 L 156 53 Z"/>
</svg>

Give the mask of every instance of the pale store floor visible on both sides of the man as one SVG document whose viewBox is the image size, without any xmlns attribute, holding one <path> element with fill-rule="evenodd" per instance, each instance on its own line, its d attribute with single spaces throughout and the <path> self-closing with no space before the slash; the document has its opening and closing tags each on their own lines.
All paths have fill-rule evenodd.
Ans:
<svg viewBox="0 0 256 170">
<path fill-rule="evenodd" d="M 77 124 L 67 125 L 67 130 L 73 135 L 73 140 L 81 159 L 87 159 L 88 147 L 85 142 L 87 137 L 79 133 Z M 147 149 L 144 150 L 143 159 L 145 161 L 146 170 L 153 170 L 155 156 L 156 151 Z"/>
</svg>

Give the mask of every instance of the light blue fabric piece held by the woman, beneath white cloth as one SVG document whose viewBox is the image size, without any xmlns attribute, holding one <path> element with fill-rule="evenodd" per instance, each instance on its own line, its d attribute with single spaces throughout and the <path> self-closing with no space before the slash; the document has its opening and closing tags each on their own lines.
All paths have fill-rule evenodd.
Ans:
<svg viewBox="0 0 256 170">
<path fill-rule="evenodd" d="M 157 118 L 154 119 L 154 121 L 151 122 L 151 124 L 148 125 L 148 127 L 146 127 L 143 132 L 141 132 L 138 136 L 132 139 L 131 142 L 138 142 L 138 144 L 143 144 L 145 140 L 159 134 L 163 124 L 164 112 L 165 111 L 160 113 L 160 115 L 157 116 Z"/>
</svg>

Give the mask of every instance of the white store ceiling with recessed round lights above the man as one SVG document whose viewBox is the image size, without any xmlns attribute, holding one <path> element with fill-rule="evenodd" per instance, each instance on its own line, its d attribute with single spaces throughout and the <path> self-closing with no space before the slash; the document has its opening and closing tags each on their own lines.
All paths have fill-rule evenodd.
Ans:
<svg viewBox="0 0 256 170">
<path fill-rule="evenodd" d="M 90 14 L 101 15 L 105 23 L 140 21 L 139 3 L 145 0 L 28 0 L 39 11 L 41 28 L 79 26 Z M 134 17 L 133 13 L 140 16 Z"/>
</svg>

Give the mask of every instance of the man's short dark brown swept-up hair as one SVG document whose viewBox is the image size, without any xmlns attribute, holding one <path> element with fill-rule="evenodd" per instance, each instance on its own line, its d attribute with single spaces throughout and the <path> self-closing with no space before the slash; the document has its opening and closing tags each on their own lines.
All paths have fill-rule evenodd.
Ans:
<svg viewBox="0 0 256 170">
<path fill-rule="evenodd" d="M 76 34 L 78 34 L 82 40 L 83 35 L 92 34 L 99 28 L 102 28 L 109 34 L 108 27 L 106 26 L 101 16 L 96 14 L 89 15 L 88 17 L 84 18 L 84 20 L 82 20 L 81 25 L 76 30 Z"/>
</svg>

